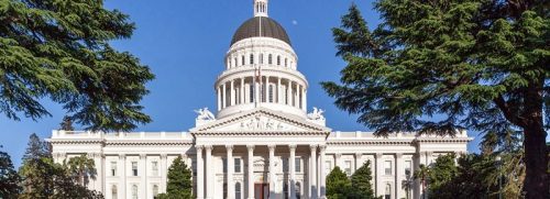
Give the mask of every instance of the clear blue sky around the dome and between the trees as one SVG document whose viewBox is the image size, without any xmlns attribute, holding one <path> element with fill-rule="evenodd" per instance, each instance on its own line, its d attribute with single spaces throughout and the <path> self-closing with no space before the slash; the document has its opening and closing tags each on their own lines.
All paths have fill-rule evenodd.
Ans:
<svg viewBox="0 0 550 199">
<path fill-rule="evenodd" d="M 369 131 L 355 122 L 355 115 L 338 110 L 319 86 L 320 81 L 338 80 L 345 66 L 334 56 L 330 29 L 339 26 L 340 16 L 351 2 L 271 0 L 270 16 L 286 29 L 298 54 L 298 69 L 310 85 L 309 109 L 326 109 L 327 125 L 333 130 Z M 371 27 L 380 23 L 372 2 L 355 1 Z M 233 32 L 252 16 L 252 0 L 107 0 L 106 5 L 130 14 L 138 27 L 130 40 L 116 41 L 113 45 L 140 57 L 156 75 L 147 85 L 151 93 L 142 101 L 153 122 L 135 131 L 187 131 L 195 124 L 194 109 L 216 110 L 213 82 L 223 70 L 223 56 Z M 48 137 L 65 114 L 57 104 L 44 104 L 52 118 L 18 122 L 0 115 L 0 145 L 18 166 L 29 135 Z M 469 151 L 477 151 L 477 143 L 470 143 Z"/>
</svg>

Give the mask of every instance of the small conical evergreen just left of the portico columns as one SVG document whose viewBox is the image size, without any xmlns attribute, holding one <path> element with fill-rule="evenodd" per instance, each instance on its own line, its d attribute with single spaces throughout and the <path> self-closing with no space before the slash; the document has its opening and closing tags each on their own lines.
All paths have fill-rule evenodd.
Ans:
<svg viewBox="0 0 550 199">
<path fill-rule="evenodd" d="M 191 199 L 193 198 L 193 172 L 182 157 L 172 162 L 168 168 L 168 183 L 166 194 L 158 195 L 160 199 Z"/>
</svg>

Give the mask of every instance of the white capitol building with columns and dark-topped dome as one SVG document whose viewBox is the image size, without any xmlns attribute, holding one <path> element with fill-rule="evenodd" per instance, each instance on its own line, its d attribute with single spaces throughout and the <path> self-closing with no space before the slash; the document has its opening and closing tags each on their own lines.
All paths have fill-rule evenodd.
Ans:
<svg viewBox="0 0 550 199">
<path fill-rule="evenodd" d="M 352 175 L 366 161 L 376 196 L 418 199 L 422 186 L 411 174 L 420 164 L 466 153 L 472 139 L 465 131 L 454 137 L 414 132 L 376 137 L 327 126 L 323 110 L 308 107 L 308 81 L 290 37 L 268 16 L 267 1 L 253 1 L 253 18 L 231 40 L 224 70 L 215 80 L 216 114 L 196 110 L 196 126 L 188 132 L 53 131 L 47 141 L 54 159 L 81 154 L 95 159 L 97 177 L 87 186 L 107 199 L 165 192 L 177 156 L 191 166 L 198 199 L 326 198 L 330 170 L 338 166 Z"/>
</svg>

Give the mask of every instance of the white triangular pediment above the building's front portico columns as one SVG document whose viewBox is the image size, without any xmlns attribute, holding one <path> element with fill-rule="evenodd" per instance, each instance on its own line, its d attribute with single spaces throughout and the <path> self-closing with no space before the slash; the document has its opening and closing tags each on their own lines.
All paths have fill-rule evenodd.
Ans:
<svg viewBox="0 0 550 199">
<path fill-rule="evenodd" d="M 305 118 L 256 108 L 194 128 L 190 132 L 330 132 Z"/>
</svg>

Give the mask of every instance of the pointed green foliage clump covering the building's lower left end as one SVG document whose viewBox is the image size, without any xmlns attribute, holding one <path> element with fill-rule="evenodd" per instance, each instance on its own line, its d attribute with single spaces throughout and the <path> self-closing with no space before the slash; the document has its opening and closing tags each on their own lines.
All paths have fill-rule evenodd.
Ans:
<svg viewBox="0 0 550 199">
<path fill-rule="evenodd" d="M 97 191 L 90 191 L 73 175 L 74 172 L 66 165 L 54 163 L 47 152 L 48 145 L 41 141 L 35 134 L 31 135 L 29 148 L 23 158 L 23 165 L 19 168 L 19 175 L 23 179 L 21 186 L 23 191 L 21 199 L 65 199 L 87 198 L 100 199 L 103 196 Z"/>
</svg>

